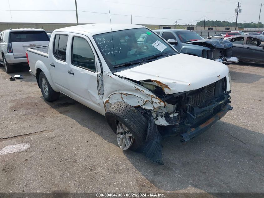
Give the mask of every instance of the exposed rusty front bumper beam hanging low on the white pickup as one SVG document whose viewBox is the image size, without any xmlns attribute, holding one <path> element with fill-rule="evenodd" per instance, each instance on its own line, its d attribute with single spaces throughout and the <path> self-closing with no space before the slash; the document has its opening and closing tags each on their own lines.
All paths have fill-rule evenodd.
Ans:
<svg viewBox="0 0 264 198">
<path fill-rule="evenodd" d="M 191 140 L 192 138 L 202 134 L 204 131 L 209 129 L 213 124 L 217 122 L 217 120 L 221 119 L 225 114 L 227 114 L 228 111 L 232 110 L 233 107 L 231 107 L 229 104 L 227 104 L 224 109 L 219 111 L 216 115 L 214 115 L 212 118 L 208 119 L 205 123 L 201 124 L 200 126 L 196 128 L 189 128 L 187 129 L 186 133 L 181 134 L 181 142 L 187 142 Z"/>
</svg>

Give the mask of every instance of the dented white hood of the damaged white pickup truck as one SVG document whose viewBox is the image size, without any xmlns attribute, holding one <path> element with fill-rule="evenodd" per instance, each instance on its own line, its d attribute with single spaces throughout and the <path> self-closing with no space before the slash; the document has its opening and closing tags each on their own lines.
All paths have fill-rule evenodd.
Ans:
<svg viewBox="0 0 264 198">
<path fill-rule="evenodd" d="M 176 54 L 114 73 L 136 81 L 154 83 L 166 94 L 199 89 L 227 76 L 226 65 L 206 58 Z"/>
</svg>

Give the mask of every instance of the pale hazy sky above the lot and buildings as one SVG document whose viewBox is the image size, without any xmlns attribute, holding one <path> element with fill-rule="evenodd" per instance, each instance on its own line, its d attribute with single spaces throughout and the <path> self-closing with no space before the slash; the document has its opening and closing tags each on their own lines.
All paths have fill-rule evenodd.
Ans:
<svg viewBox="0 0 264 198">
<path fill-rule="evenodd" d="M 74 0 L 9 0 L 10 7 L 8 0 L 0 1 L 0 22 L 76 23 Z M 238 15 L 238 22 L 257 23 L 262 0 L 247 0 L 240 3 L 242 13 Z M 79 23 L 109 23 L 109 14 L 103 13 L 109 13 L 110 10 L 112 23 L 131 23 L 132 14 L 134 24 L 172 25 L 177 20 L 178 25 L 183 25 L 196 24 L 197 21 L 204 19 L 204 15 L 207 17 L 206 20 L 235 21 L 234 10 L 237 1 L 77 0 L 77 7 Z M 264 23 L 264 6 L 260 22 Z"/>
</svg>

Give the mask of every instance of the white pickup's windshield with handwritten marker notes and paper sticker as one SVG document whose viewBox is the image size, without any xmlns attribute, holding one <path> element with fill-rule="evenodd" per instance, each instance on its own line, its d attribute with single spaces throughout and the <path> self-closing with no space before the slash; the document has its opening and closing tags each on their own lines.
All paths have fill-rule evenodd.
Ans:
<svg viewBox="0 0 264 198">
<path fill-rule="evenodd" d="M 136 66 L 140 61 L 149 62 L 161 56 L 177 54 L 147 28 L 102 33 L 93 38 L 111 71 L 117 67 Z"/>
</svg>

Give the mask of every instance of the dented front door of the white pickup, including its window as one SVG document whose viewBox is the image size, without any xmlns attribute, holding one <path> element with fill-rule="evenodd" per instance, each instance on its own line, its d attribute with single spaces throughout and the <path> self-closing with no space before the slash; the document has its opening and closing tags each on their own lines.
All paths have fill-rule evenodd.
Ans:
<svg viewBox="0 0 264 198">
<path fill-rule="evenodd" d="M 72 98 L 104 114 L 102 93 L 98 89 L 100 63 L 92 43 L 88 37 L 77 33 L 73 33 L 70 40 L 71 60 L 67 79 Z"/>
</svg>

